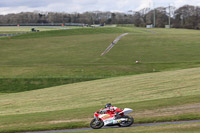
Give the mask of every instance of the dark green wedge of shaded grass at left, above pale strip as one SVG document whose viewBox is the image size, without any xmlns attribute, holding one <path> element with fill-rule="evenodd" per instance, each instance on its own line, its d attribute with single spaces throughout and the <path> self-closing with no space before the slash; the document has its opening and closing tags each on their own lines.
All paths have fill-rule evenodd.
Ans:
<svg viewBox="0 0 200 133">
<path fill-rule="evenodd" d="M 98 78 L 2 78 L 0 79 L 0 93 L 31 91 L 96 79 Z"/>
</svg>

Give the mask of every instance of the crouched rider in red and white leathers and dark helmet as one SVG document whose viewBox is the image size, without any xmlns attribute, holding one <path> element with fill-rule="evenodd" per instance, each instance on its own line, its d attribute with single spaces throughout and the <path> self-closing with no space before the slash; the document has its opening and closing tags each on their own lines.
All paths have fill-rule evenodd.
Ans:
<svg viewBox="0 0 200 133">
<path fill-rule="evenodd" d="M 111 103 L 106 104 L 105 109 L 101 110 L 102 113 L 106 113 L 106 114 L 110 114 L 110 115 L 115 114 L 116 119 L 121 117 L 121 115 L 119 115 L 119 112 L 121 112 L 121 111 L 123 111 L 123 110 L 121 110 L 115 106 L 112 106 Z"/>
</svg>

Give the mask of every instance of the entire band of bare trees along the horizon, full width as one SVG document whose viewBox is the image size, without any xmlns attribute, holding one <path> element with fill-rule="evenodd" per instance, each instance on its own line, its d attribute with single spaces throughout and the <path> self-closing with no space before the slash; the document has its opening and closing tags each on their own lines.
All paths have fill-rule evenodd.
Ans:
<svg viewBox="0 0 200 133">
<path fill-rule="evenodd" d="M 178 9 L 175 7 L 145 8 L 138 12 L 84 12 L 84 13 L 58 13 L 58 12 L 22 12 L 18 14 L 0 15 L 2 24 L 37 24 L 37 23 L 84 23 L 84 24 L 134 24 L 137 27 L 154 25 L 165 27 L 171 24 L 174 28 L 200 28 L 200 7 L 185 5 Z"/>
</svg>

